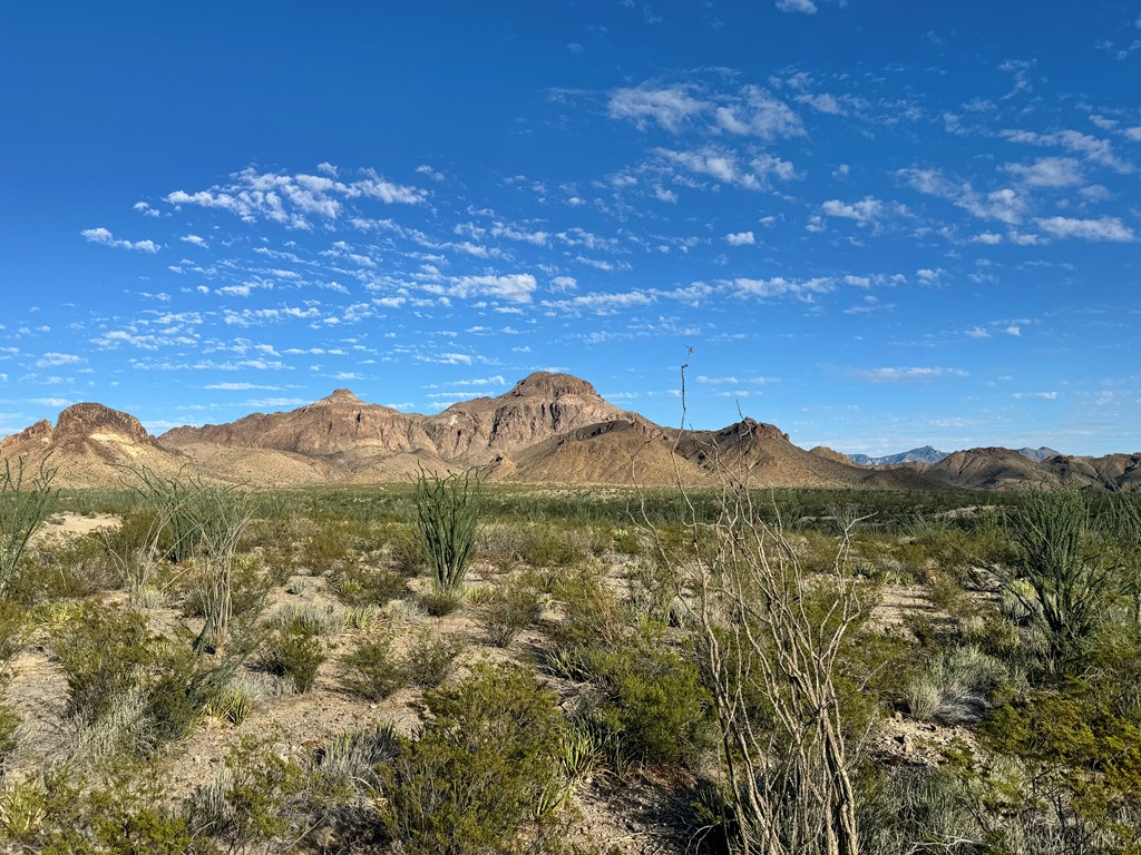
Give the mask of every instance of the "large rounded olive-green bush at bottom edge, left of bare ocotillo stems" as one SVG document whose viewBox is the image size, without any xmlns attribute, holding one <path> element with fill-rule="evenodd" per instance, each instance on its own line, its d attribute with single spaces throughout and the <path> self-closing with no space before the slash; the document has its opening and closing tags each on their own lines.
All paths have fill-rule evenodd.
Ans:
<svg viewBox="0 0 1141 855">
<path fill-rule="evenodd" d="M 519 832 L 558 774 L 557 698 L 523 670 L 478 666 L 429 691 L 415 741 L 386 769 L 382 821 L 408 855 L 520 850 Z"/>
</svg>

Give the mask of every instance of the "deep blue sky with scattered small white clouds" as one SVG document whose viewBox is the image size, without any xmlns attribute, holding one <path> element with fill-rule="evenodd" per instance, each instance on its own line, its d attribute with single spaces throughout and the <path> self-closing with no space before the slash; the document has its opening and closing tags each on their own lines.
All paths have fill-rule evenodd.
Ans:
<svg viewBox="0 0 1141 855">
<path fill-rule="evenodd" d="M 326 8 L 327 7 L 327 8 Z M 6 3 L 0 434 L 535 369 L 1141 448 L 1141 5 Z"/>
</svg>

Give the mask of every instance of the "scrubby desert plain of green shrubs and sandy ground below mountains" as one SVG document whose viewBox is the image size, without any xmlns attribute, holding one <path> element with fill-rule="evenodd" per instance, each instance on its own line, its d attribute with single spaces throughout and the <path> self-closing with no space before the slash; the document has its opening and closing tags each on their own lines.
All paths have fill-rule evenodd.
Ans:
<svg viewBox="0 0 1141 855">
<path fill-rule="evenodd" d="M 1138 494 L 49 474 L 3 850 L 1141 847 Z"/>
</svg>

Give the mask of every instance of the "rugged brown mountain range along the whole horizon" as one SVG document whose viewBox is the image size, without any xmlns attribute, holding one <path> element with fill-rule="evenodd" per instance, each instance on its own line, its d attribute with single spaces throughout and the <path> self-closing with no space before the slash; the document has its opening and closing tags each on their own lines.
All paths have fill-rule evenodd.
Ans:
<svg viewBox="0 0 1141 855">
<path fill-rule="evenodd" d="M 496 398 L 435 415 L 367 404 L 347 389 L 286 413 L 149 435 L 133 416 L 75 404 L 0 441 L 0 459 L 46 461 L 57 486 L 108 487 L 146 467 L 251 487 L 406 481 L 421 467 L 479 467 L 492 481 L 539 484 L 717 486 L 840 489 L 1017 489 L 1075 483 L 1141 487 L 1141 454 L 1067 457 L 1052 449 L 921 448 L 857 465 L 810 451 L 771 424 L 743 418 L 715 431 L 663 427 L 605 400 L 590 383 L 539 372 Z"/>
</svg>

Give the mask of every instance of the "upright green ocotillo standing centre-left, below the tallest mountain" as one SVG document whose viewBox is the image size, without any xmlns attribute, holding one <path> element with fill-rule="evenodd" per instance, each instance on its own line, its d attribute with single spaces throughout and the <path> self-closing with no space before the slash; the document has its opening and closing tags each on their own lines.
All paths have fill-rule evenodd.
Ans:
<svg viewBox="0 0 1141 855">
<path fill-rule="evenodd" d="M 415 481 L 416 546 L 438 587 L 463 584 L 479 529 L 483 484 L 475 471 L 440 477 L 420 471 Z"/>
</svg>

